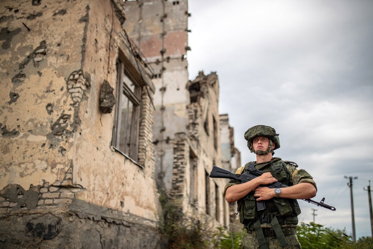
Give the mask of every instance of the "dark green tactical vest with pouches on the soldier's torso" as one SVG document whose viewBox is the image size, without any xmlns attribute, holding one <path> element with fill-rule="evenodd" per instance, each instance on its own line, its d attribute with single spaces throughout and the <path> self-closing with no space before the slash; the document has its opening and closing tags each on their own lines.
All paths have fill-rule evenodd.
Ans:
<svg viewBox="0 0 373 249">
<path fill-rule="evenodd" d="M 247 166 L 250 163 L 254 164 L 255 162 L 247 163 L 245 165 L 244 172 L 247 172 Z M 273 158 L 268 165 L 264 166 L 263 168 L 260 168 L 260 170 L 264 172 L 271 172 L 273 177 L 275 177 L 280 183 L 285 184 L 287 186 L 292 186 L 292 175 L 289 175 L 288 171 L 286 170 L 286 164 L 289 164 L 289 162 L 284 162 L 280 158 Z M 259 215 L 268 213 L 275 214 L 277 217 L 284 218 L 281 219 L 283 220 L 281 222 L 283 224 L 298 224 L 298 219 L 288 218 L 297 217 L 301 213 L 297 200 L 274 197 L 270 200 L 266 200 L 267 209 L 260 212 L 256 210 L 256 202 L 257 201 L 254 197 L 254 192 L 248 193 L 245 197 L 237 201 L 239 221 L 242 224 L 244 224 L 246 228 L 250 228 L 253 222 L 257 220 Z"/>
</svg>

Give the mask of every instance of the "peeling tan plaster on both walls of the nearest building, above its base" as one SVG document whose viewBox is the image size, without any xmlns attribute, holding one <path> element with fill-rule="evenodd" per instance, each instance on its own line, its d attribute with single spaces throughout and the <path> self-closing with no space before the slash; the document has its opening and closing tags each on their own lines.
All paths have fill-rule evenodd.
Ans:
<svg viewBox="0 0 373 249">
<path fill-rule="evenodd" d="M 9 43 L 0 52 L 4 83 L 0 190 L 19 184 L 25 190 L 38 186 L 35 191 L 39 191 L 46 183 L 62 182 L 71 174 L 69 187 L 84 190 L 75 192 L 76 198 L 155 220 L 158 200 L 151 134 L 145 136 L 141 168 L 110 147 L 114 112 L 101 115 L 98 109 L 103 80 L 116 91 L 118 54 L 123 53 L 137 68 L 110 1 L 43 0 L 37 6 L 30 1 L 2 1 L 0 7 L 1 25 L 11 31 L 21 28 L 11 34 L 11 40 L 3 40 L 2 35 L 0 41 L 0 45 Z M 46 54 L 38 56 L 36 49 L 43 41 Z M 154 85 L 141 71 L 152 97 Z M 75 88 L 79 89 L 71 90 Z M 19 97 L 12 101 L 10 93 Z M 148 119 L 152 107 L 145 88 L 143 96 L 142 115 Z"/>
</svg>

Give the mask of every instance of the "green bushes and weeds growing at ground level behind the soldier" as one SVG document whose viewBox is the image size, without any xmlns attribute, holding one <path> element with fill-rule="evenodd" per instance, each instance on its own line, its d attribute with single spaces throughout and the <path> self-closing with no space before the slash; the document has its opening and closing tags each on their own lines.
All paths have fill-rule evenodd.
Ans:
<svg viewBox="0 0 373 249">
<path fill-rule="evenodd" d="M 160 217 L 160 234 L 164 248 L 167 249 L 206 249 L 241 248 L 241 241 L 245 234 L 242 228 L 231 234 L 229 229 L 214 227 L 206 215 L 184 214 L 174 199 L 160 191 L 162 217 Z M 361 237 L 352 242 L 341 230 L 325 227 L 311 222 L 301 223 L 297 227 L 297 234 L 302 249 L 372 249 L 373 238 Z M 233 242 L 232 242 L 233 238 Z M 233 244 L 233 245 L 232 245 Z"/>
</svg>

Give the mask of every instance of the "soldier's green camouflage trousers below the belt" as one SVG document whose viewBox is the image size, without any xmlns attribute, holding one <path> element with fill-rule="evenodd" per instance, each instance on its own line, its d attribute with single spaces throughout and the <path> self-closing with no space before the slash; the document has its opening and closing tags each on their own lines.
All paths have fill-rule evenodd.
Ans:
<svg viewBox="0 0 373 249">
<path fill-rule="evenodd" d="M 266 244 L 268 249 L 282 249 L 280 242 L 277 238 L 267 237 Z M 285 236 L 288 246 L 285 246 L 283 249 L 301 249 L 301 245 L 298 241 L 297 234 Z M 258 244 L 258 239 L 256 237 L 255 231 L 252 234 L 245 233 L 244 238 L 241 243 L 242 249 L 260 249 Z"/>
</svg>

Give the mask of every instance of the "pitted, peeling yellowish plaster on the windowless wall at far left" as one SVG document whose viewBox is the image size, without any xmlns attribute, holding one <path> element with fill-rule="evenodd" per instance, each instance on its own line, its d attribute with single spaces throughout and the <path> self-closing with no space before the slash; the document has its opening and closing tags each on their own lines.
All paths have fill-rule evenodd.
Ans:
<svg viewBox="0 0 373 249">
<path fill-rule="evenodd" d="M 75 109 L 70 106 L 66 83 L 81 67 L 82 51 L 73 46 L 82 45 L 83 32 L 76 30 L 83 31 L 85 23 L 79 19 L 86 10 L 84 2 L 43 1 L 32 6 L 31 1 L 1 1 L 0 5 L 0 15 L 6 20 L 1 27 L 20 29 L 11 40 L 3 41 L 9 46 L 0 50 L 0 189 L 10 183 L 29 189 L 42 185 L 43 180 L 63 180 L 72 158 Z M 13 102 L 10 92 L 19 96 Z M 63 124 L 67 132 L 57 137 L 51 129 L 62 115 L 68 117 Z M 4 136 L 6 129 L 17 133 Z"/>
</svg>

